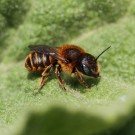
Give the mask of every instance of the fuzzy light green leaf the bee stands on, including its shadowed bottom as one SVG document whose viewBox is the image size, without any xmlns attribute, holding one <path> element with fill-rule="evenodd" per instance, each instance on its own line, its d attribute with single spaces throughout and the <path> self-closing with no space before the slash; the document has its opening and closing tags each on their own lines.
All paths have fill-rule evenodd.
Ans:
<svg viewBox="0 0 135 135">
<path fill-rule="evenodd" d="M 3 133 L 90 135 L 125 125 L 134 116 L 135 108 L 134 27 L 135 19 L 127 17 L 71 41 L 94 56 L 111 45 L 99 59 L 101 80 L 87 79 L 93 85 L 91 89 L 64 76 L 64 93 L 52 74 L 43 89 L 33 94 L 40 75 L 29 74 L 24 61 L 1 64 Z"/>
</svg>

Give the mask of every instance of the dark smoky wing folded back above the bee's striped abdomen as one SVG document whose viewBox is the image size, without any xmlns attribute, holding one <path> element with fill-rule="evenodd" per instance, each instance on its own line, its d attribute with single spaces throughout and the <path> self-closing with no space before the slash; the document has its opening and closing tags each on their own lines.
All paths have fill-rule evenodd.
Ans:
<svg viewBox="0 0 135 135">
<path fill-rule="evenodd" d="M 30 45 L 29 49 L 31 51 L 36 51 L 36 52 L 39 52 L 39 53 L 44 53 L 46 55 L 50 55 L 53 58 L 55 58 L 57 60 L 61 60 L 64 63 L 68 62 L 68 60 L 66 60 L 65 58 L 61 57 L 60 54 L 58 53 L 59 47 L 52 48 L 52 47 L 49 47 L 49 46 L 46 46 L 46 45 Z"/>
</svg>

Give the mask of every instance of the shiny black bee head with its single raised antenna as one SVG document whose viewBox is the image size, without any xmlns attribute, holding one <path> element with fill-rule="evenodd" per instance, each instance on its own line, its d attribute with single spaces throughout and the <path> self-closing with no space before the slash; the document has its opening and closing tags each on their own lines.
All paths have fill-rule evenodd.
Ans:
<svg viewBox="0 0 135 135">
<path fill-rule="evenodd" d="M 92 76 L 94 78 L 100 77 L 100 68 L 97 60 L 110 47 L 111 46 L 102 51 L 96 58 L 88 53 L 81 55 L 76 66 L 78 71 L 84 75 Z"/>
</svg>

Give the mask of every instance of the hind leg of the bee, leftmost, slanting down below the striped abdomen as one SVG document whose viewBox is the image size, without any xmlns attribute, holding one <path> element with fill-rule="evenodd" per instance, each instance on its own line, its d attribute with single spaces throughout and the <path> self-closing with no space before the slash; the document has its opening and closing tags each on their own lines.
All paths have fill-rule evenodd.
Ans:
<svg viewBox="0 0 135 135">
<path fill-rule="evenodd" d="M 34 92 L 35 90 L 40 90 L 40 89 L 45 85 L 45 80 L 46 80 L 46 78 L 49 76 L 49 72 L 50 72 L 51 69 L 52 69 L 52 64 L 49 65 L 48 67 L 46 67 L 46 69 L 45 69 L 45 70 L 43 71 L 43 73 L 42 73 L 42 78 L 41 78 L 41 81 L 40 81 L 39 86 L 38 86 L 37 88 L 35 88 L 35 89 L 33 90 L 33 92 Z"/>
</svg>

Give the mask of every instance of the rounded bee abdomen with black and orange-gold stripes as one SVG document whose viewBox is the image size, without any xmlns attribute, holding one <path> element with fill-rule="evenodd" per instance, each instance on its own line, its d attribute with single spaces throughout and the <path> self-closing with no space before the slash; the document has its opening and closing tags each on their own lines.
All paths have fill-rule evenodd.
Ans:
<svg viewBox="0 0 135 135">
<path fill-rule="evenodd" d="M 29 71 L 42 71 L 50 65 L 51 59 L 49 55 L 32 52 L 25 59 L 25 67 Z"/>
</svg>

